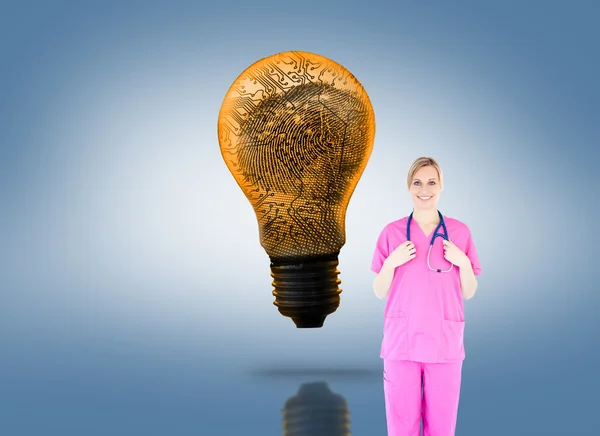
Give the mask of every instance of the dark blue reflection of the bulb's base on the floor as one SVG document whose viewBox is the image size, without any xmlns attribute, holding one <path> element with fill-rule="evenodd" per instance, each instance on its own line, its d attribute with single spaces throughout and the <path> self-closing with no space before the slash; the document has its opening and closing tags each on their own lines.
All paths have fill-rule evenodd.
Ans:
<svg viewBox="0 0 600 436">
<path fill-rule="evenodd" d="M 286 436 L 350 436 L 346 400 L 324 381 L 302 384 L 282 413 Z"/>
</svg>

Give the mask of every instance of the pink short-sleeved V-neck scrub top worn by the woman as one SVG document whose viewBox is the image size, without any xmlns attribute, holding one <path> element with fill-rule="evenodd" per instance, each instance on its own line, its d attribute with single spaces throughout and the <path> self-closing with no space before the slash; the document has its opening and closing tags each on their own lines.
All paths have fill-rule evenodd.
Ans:
<svg viewBox="0 0 600 436">
<path fill-rule="evenodd" d="M 479 258 L 466 224 L 444 215 L 448 238 L 471 260 L 475 275 L 481 274 Z M 406 242 L 408 217 L 391 222 L 381 232 L 371 269 L 379 274 L 389 254 Z M 443 233 L 443 227 L 439 231 Z M 413 219 L 410 239 L 416 256 L 396 268 L 384 310 L 383 341 L 380 357 L 415 362 L 456 362 L 465 358 L 464 306 L 459 268 L 438 273 L 427 266 L 427 251 L 433 232 L 425 236 Z M 431 249 L 432 268 L 447 270 L 443 238 L 435 239 Z"/>
</svg>

